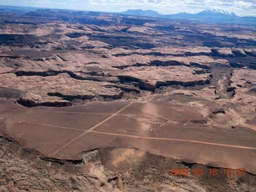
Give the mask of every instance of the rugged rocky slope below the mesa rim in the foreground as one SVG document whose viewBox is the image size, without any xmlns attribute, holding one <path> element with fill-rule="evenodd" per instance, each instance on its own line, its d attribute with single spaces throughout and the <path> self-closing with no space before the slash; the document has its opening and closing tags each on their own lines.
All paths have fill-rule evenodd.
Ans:
<svg viewBox="0 0 256 192">
<path fill-rule="evenodd" d="M 143 166 L 127 166 L 126 169 L 119 167 L 117 170 L 110 169 L 114 164 L 112 157 L 122 154 L 130 154 L 130 162 L 136 161 L 135 154 L 142 151 L 133 149 L 97 149 L 87 151 L 83 155 L 81 162 L 54 161 L 45 159 L 34 151 L 23 150 L 15 142 L 0 138 L 2 150 L 0 150 L 1 164 L 0 177 L 2 191 L 22 191 L 22 190 L 43 190 L 43 191 L 114 191 L 127 192 L 141 190 L 150 191 L 177 191 L 190 190 L 249 190 L 253 191 L 254 175 L 246 173 L 246 183 L 238 185 L 238 181 L 232 180 L 232 186 L 228 185 L 226 176 L 222 179 L 203 179 L 197 176 L 178 177 L 170 175 L 170 165 L 175 167 L 186 167 L 190 170 L 209 170 L 211 167 L 196 163 L 178 162 L 171 158 L 166 158 L 154 154 L 146 154 L 142 160 Z M 115 155 L 113 156 L 113 154 Z M 149 159 L 149 160 L 147 160 Z M 138 160 L 137 160 L 138 161 Z M 120 164 L 124 163 L 122 160 Z M 155 165 L 155 162 L 158 165 Z M 126 162 L 127 164 L 127 162 Z M 107 168 L 106 168 L 107 167 Z M 157 169 L 157 167 L 159 167 Z M 86 171 L 87 170 L 87 171 Z M 222 168 L 218 168 L 223 173 Z M 153 178 L 148 179 L 149 175 Z M 26 179 L 24 179 L 26 177 Z M 200 183 L 198 182 L 200 179 Z M 232 178 L 231 178 L 232 179 Z M 154 180 L 158 181 L 158 186 L 154 187 Z M 213 185 L 214 183 L 214 185 Z"/>
</svg>

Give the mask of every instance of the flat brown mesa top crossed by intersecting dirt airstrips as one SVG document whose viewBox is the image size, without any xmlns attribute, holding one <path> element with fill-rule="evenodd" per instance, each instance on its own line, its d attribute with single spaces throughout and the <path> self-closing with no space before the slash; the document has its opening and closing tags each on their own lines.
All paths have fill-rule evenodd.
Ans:
<svg viewBox="0 0 256 192">
<path fill-rule="evenodd" d="M 0 134 L 48 158 L 79 160 L 87 150 L 135 148 L 186 162 L 256 174 L 256 133 L 210 122 L 205 106 L 173 102 L 91 102 L 64 108 L 0 103 Z"/>
</svg>

